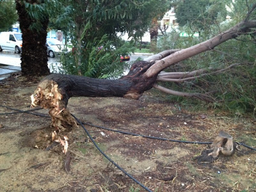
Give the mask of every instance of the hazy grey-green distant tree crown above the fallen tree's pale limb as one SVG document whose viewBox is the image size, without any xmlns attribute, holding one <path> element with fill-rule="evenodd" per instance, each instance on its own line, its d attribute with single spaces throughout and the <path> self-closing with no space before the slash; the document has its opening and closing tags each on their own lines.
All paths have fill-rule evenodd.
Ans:
<svg viewBox="0 0 256 192">
<path fill-rule="evenodd" d="M 211 1 L 211 0 L 184 0 L 177 3 L 175 17 L 179 26 L 193 26 L 200 31 L 214 24 L 217 17 L 227 15 L 225 4 L 228 1 Z"/>
</svg>

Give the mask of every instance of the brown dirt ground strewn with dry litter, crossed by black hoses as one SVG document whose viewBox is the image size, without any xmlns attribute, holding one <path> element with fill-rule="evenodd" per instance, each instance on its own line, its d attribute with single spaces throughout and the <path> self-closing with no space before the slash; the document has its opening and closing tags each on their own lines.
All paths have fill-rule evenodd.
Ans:
<svg viewBox="0 0 256 192">
<path fill-rule="evenodd" d="M 100 154 L 81 126 L 68 137 L 68 153 L 53 145 L 51 118 L 28 110 L 38 81 L 15 74 L 0 81 L 0 191 L 145 191 Z M 71 98 L 79 120 L 119 131 L 186 141 L 213 141 L 220 130 L 256 148 L 256 122 L 216 111 L 197 113 L 155 97 Z M 47 110 L 35 111 L 47 115 Z M 152 140 L 84 125 L 115 163 L 152 191 L 256 191 L 256 153 L 240 147 L 213 163 L 196 157 L 209 146 Z M 69 157 L 70 164 L 69 164 Z M 70 171 L 68 166 L 70 165 Z"/>
</svg>

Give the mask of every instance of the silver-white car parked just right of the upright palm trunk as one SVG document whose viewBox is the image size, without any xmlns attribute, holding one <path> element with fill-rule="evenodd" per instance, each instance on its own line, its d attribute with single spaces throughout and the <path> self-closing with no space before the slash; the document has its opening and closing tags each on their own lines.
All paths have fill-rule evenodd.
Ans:
<svg viewBox="0 0 256 192">
<path fill-rule="evenodd" d="M 47 47 L 47 55 L 50 58 L 54 58 L 55 56 L 60 55 L 61 52 L 70 52 L 70 48 L 63 45 L 62 42 L 56 38 L 47 38 L 45 45 Z"/>
</svg>

